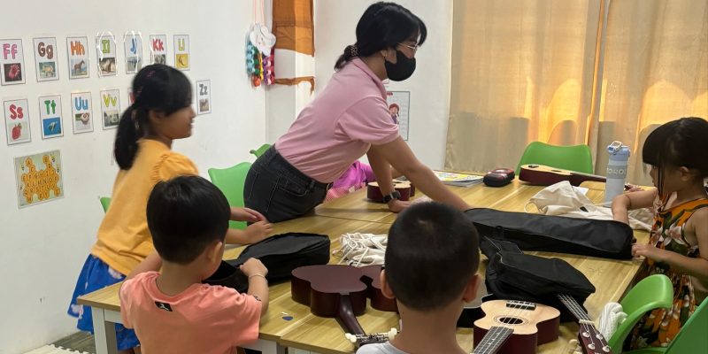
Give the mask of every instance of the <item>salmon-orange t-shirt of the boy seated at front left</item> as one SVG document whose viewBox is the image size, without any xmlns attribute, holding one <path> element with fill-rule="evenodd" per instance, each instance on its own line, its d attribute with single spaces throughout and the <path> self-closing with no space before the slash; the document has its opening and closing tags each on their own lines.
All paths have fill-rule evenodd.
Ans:
<svg viewBox="0 0 708 354">
<path fill-rule="evenodd" d="M 120 318 L 135 328 L 142 353 L 235 353 L 258 339 L 261 303 L 235 289 L 194 284 L 166 296 L 158 272 L 140 273 L 120 287 Z"/>
</svg>

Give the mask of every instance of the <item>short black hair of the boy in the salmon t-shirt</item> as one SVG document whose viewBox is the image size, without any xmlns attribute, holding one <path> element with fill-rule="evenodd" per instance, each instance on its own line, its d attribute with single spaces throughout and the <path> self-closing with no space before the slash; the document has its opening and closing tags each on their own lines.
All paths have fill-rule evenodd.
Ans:
<svg viewBox="0 0 708 354">
<path fill-rule="evenodd" d="M 148 199 L 148 227 L 160 258 L 181 265 L 214 241 L 224 241 L 231 209 L 210 181 L 179 176 L 155 185 Z"/>
</svg>

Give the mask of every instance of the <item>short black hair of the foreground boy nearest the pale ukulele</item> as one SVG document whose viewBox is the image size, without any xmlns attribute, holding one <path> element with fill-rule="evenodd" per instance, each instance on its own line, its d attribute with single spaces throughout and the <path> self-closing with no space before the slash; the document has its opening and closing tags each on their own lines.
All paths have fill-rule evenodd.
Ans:
<svg viewBox="0 0 708 354">
<path fill-rule="evenodd" d="M 450 304 L 480 266 L 479 235 L 446 204 L 413 204 L 389 230 L 386 280 L 396 300 L 428 312 Z"/>
</svg>

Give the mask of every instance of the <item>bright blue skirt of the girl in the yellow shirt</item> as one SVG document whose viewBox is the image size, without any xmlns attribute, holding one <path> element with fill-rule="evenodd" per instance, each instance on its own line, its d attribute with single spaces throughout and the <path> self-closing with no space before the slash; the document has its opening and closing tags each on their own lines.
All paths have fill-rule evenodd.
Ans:
<svg viewBox="0 0 708 354">
<path fill-rule="evenodd" d="M 98 289 L 104 289 L 124 279 L 126 279 L 124 274 L 118 273 L 96 256 L 89 255 L 89 258 L 86 258 L 86 263 L 79 274 L 79 280 L 76 281 L 76 289 L 73 290 L 72 303 L 69 305 L 68 311 L 70 316 L 79 319 L 77 328 L 89 331 L 91 334 L 94 333 L 90 307 L 76 304 L 76 298 Z M 118 342 L 118 350 L 129 350 L 140 345 L 135 331 L 120 324 L 116 324 L 116 341 Z"/>
</svg>

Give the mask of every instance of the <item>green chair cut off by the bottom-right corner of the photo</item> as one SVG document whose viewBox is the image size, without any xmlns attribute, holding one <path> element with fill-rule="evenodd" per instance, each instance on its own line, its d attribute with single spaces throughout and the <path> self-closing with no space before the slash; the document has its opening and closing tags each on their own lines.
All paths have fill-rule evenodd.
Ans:
<svg viewBox="0 0 708 354">
<path fill-rule="evenodd" d="M 704 300 L 681 327 L 676 338 L 666 348 L 645 348 L 626 351 L 632 354 L 708 353 L 708 300 Z"/>
</svg>

